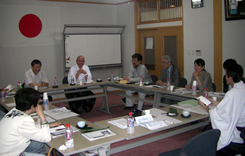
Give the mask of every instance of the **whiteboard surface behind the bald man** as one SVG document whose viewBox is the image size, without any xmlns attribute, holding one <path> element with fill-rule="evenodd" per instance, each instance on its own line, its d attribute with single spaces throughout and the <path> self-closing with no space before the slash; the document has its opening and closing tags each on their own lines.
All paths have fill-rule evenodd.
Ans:
<svg viewBox="0 0 245 156">
<path fill-rule="evenodd" d="M 89 67 L 122 64 L 121 34 L 65 35 L 65 67 L 75 65 L 79 55 Z"/>
</svg>

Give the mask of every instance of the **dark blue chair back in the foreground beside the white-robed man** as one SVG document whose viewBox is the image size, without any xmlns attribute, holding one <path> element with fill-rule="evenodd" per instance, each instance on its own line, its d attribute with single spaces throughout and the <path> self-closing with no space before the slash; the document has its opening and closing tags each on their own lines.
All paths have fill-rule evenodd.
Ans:
<svg viewBox="0 0 245 156">
<path fill-rule="evenodd" d="M 160 153 L 158 156 L 215 156 L 219 137 L 220 130 L 208 130 L 193 137 L 183 148 Z"/>
</svg>

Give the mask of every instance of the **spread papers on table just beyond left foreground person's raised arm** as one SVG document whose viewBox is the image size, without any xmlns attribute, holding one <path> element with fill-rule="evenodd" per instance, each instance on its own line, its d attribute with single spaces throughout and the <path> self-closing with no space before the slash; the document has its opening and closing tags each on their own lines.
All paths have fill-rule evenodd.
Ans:
<svg viewBox="0 0 245 156">
<path fill-rule="evenodd" d="M 65 119 L 65 118 L 74 117 L 74 116 L 79 115 L 79 114 L 76 114 L 74 112 L 71 112 L 70 110 L 66 109 L 65 107 L 54 108 L 51 110 L 45 110 L 43 112 L 44 112 L 44 114 L 50 116 L 51 118 L 53 118 L 55 120 Z"/>
</svg>

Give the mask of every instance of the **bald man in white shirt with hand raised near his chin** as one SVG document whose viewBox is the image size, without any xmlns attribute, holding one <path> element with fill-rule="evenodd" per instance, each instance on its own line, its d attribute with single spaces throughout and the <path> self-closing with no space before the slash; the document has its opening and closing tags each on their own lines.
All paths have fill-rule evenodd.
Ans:
<svg viewBox="0 0 245 156">
<path fill-rule="evenodd" d="M 92 80 L 92 75 L 87 65 L 85 65 L 85 58 L 80 55 L 76 59 L 76 65 L 72 66 L 68 73 L 68 82 L 71 83 L 71 77 L 74 77 L 75 83 L 79 81 L 87 82 Z"/>
</svg>

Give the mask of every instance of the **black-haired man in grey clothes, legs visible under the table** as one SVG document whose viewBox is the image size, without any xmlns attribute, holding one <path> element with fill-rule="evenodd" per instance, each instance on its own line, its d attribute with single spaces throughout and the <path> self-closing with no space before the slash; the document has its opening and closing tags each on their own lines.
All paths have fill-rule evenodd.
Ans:
<svg viewBox="0 0 245 156">
<path fill-rule="evenodd" d="M 144 82 L 151 83 L 152 79 L 150 77 L 150 74 L 149 74 L 147 68 L 141 63 L 142 63 L 142 55 L 138 54 L 138 53 L 133 54 L 133 56 L 132 56 L 132 64 L 133 65 L 130 68 L 128 77 L 125 77 L 124 80 L 127 80 L 128 82 L 139 82 L 140 76 L 142 76 Z M 132 93 L 133 93 L 133 91 L 130 91 L 130 90 L 126 91 L 126 95 L 133 96 Z M 140 98 L 142 98 L 142 99 L 145 98 L 146 94 L 144 94 L 144 93 L 138 93 L 138 94 L 139 94 Z M 131 98 L 126 98 L 126 100 L 125 100 L 125 98 L 123 98 L 122 102 L 126 106 L 124 109 L 134 107 L 133 99 L 131 99 Z M 143 103 L 144 103 L 143 101 L 138 102 L 138 110 L 142 110 Z"/>
</svg>

